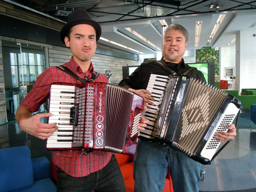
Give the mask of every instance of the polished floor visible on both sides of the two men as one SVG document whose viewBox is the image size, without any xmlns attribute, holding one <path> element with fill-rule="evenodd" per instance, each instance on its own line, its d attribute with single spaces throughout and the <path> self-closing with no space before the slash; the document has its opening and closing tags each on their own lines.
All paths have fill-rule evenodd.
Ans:
<svg viewBox="0 0 256 192">
<path fill-rule="evenodd" d="M 242 110 L 235 140 L 218 154 L 211 165 L 202 166 L 206 172 L 204 180 L 199 183 L 201 192 L 256 192 L 256 125 L 253 124 L 252 130 L 254 139 L 250 138 L 250 128 L 250 110 Z M 46 140 L 20 131 L 15 121 L 0 126 L 1 140 L 4 141 L 0 142 L 1 148 L 28 145 L 32 157 L 46 156 L 52 160 L 53 152 L 46 149 Z"/>
</svg>

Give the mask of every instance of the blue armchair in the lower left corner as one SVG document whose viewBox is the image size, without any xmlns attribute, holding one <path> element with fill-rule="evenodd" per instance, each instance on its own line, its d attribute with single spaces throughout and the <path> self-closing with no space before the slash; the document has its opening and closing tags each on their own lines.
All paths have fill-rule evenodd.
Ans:
<svg viewBox="0 0 256 192">
<path fill-rule="evenodd" d="M 46 157 L 31 159 L 27 146 L 0 149 L 0 192 L 56 192 Z"/>
</svg>

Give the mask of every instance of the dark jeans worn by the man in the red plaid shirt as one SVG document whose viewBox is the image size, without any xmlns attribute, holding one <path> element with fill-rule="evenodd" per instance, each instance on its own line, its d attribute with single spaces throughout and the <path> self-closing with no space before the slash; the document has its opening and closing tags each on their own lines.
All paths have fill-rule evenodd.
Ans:
<svg viewBox="0 0 256 192">
<path fill-rule="evenodd" d="M 125 192 L 125 182 L 113 154 L 101 170 L 84 177 L 72 177 L 57 167 L 57 192 Z"/>
</svg>

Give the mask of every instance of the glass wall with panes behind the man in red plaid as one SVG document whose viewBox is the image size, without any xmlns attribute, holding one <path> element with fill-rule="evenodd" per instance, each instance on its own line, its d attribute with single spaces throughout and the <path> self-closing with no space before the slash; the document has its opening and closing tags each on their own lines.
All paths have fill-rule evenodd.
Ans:
<svg viewBox="0 0 256 192">
<path fill-rule="evenodd" d="M 8 121 L 15 119 L 20 101 L 46 69 L 45 47 L 2 41 L 3 71 Z M 41 107 L 44 111 L 43 106 Z"/>
</svg>

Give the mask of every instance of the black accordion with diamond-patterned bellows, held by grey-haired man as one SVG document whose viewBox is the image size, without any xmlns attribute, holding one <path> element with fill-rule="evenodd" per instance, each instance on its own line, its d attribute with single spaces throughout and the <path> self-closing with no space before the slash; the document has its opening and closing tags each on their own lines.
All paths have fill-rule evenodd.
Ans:
<svg viewBox="0 0 256 192">
<path fill-rule="evenodd" d="M 234 96 L 186 75 L 152 73 L 147 90 L 154 106 L 142 112 L 150 120 L 139 138 L 171 145 L 202 164 L 224 148 L 215 134 L 238 120 L 241 102 Z M 226 143 L 227 144 L 227 143 Z"/>
</svg>

